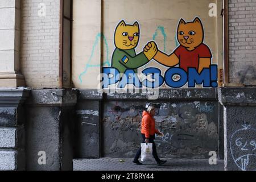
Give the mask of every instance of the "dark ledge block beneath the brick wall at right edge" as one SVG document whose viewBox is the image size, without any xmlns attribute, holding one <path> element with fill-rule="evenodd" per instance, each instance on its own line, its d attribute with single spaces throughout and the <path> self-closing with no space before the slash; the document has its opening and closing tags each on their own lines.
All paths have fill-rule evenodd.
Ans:
<svg viewBox="0 0 256 182">
<path fill-rule="evenodd" d="M 256 88 L 220 88 L 218 98 L 224 106 L 256 106 Z"/>
</svg>

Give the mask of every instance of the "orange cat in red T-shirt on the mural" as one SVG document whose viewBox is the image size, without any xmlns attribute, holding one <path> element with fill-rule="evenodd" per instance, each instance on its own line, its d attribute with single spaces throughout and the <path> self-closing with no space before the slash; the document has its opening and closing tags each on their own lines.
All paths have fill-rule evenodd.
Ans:
<svg viewBox="0 0 256 182">
<path fill-rule="evenodd" d="M 166 55 L 158 50 L 154 60 L 167 67 L 179 67 L 188 72 L 188 68 L 196 68 L 201 73 L 204 68 L 209 68 L 212 53 L 204 42 L 204 28 L 201 20 L 196 17 L 193 22 L 185 22 L 180 19 L 177 28 L 177 40 L 180 46 L 171 55 Z M 144 47 L 144 51 L 150 51 L 150 47 Z"/>
</svg>

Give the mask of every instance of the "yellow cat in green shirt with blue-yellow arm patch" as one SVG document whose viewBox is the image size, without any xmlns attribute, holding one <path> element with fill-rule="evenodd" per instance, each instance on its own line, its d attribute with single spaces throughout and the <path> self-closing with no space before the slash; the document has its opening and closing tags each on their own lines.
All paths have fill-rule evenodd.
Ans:
<svg viewBox="0 0 256 182">
<path fill-rule="evenodd" d="M 124 73 L 126 69 L 133 69 L 137 73 L 139 67 L 147 64 L 156 55 L 157 47 L 154 43 L 148 43 L 151 46 L 150 50 L 136 53 L 135 48 L 138 46 L 139 36 L 138 22 L 131 25 L 122 20 L 115 28 L 112 67 L 118 69 L 119 73 Z"/>
</svg>

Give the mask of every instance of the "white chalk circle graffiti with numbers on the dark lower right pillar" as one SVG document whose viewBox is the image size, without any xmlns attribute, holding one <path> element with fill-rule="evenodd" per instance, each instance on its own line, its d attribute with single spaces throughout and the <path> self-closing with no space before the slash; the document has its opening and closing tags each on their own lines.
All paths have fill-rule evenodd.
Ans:
<svg viewBox="0 0 256 182">
<path fill-rule="evenodd" d="M 256 170 L 252 164 L 256 161 L 256 130 L 250 125 L 242 125 L 243 129 L 237 130 L 230 139 L 230 151 L 234 163 L 242 171 Z"/>
</svg>

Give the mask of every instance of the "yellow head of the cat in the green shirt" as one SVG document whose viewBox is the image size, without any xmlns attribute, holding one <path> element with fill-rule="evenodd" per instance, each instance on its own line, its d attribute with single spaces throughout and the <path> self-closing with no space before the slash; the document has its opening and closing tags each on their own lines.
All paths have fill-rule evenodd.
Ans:
<svg viewBox="0 0 256 182">
<path fill-rule="evenodd" d="M 139 23 L 128 25 L 121 21 L 115 29 L 115 47 L 123 50 L 134 49 L 139 42 Z"/>
</svg>

